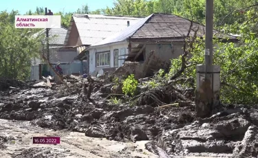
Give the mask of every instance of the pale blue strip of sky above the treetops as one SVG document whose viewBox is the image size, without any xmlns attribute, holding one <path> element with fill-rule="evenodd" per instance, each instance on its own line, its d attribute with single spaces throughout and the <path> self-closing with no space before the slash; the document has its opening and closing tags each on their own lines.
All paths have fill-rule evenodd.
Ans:
<svg viewBox="0 0 258 158">
<path fill-rule="evenodd" d="M 19 10 L 25 14 L 29 10 L 34 12 L 36 7 L 43 7 L 54 12 L 75 12 L 82 5 L 88 5 L 89 10 L 96 10 L 113 6 L 113 0 L 6 0 L 0 2 L 0 12 L 3 10 Z"/>
</svg>

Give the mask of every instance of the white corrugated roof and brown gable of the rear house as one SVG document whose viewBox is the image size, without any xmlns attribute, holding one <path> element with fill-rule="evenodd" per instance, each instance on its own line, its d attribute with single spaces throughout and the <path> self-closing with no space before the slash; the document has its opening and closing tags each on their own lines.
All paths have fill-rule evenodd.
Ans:
<svg viewBox="0 0 258 158">
<path fill-rule="evenodd" d="M 109 16 L 100 14 L 73 14 L 65 36 L 65 47 L 76 47 L 80 60 L 85 54 L 80 54 L 86 47 L 94 45 L 103 39 L 124 30 L 143 19 L 138 16 Z"/>
</svg>

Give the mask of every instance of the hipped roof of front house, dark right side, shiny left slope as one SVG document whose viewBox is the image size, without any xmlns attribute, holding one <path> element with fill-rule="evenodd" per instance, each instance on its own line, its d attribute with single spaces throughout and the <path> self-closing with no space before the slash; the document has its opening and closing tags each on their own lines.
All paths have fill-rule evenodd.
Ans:
<svg viewBox="0 0 258 158">
<path fill-rule="evenodd" d="M 191 21 L 189 19 L 184 19 L 180 16 L 173 14 L 161 14 L 155 13 L 151 14 L 145 19 L 142 19 L 135 25 L 127 27 L 125 30 L 105 38 L 105 40 L 100 41 L 94 45 L 105 45 L 108 43 L 116 43 L 120 41 L 125 41 L 127 38 L 131 37 L 131 40 L 161 40 L 166 39 L 169 41 L 182 41 L 182 38 L 187 36 L 189 32 L 189 27 Z M 200 23 L 193 22 L 193 28 L 199 27 L 197 36 L 204 36 L 205 26 Z M 230 36 L 228 34 L 220 34 L 217 30 L 213 30 L 213 33 L 218 38 L 230 38 L 236 40 L 235 36 Z M 189 36 L 193 36 L 194 32 L 191 31 Z M 92 46 L 94 46 L 92 45 Z"/>
</svg>

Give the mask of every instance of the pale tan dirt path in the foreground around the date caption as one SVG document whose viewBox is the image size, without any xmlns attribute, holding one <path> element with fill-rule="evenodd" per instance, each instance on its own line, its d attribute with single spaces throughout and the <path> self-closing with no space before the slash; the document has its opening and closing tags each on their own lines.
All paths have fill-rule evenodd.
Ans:
<svg viewBox="0 0 258 158">
<path fill-rule="evenodd" d="M 0 142 L 0 157 L 158 157 L 144 149 L 146 142 L 122 143 L 85 137 L 84 133 L 52 131 L 30 122 L 0 120 L 0 136 L 14 137 Z M 61 144 L 32 144 L 32 137 L 60 136 Z"/>
</svg>

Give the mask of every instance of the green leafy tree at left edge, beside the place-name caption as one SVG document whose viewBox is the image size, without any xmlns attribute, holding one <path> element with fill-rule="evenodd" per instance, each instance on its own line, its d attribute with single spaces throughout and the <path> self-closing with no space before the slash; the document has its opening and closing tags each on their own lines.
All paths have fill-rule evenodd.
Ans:
<svg viewBox="0 0 258 158">
<path fill-rule="evenodd" d="M 31 59 L 38 56 L 40 37 L 37 29 L 16 29 L 17 11 L 0 13 L 0 77 L 24 80 L 30 76 Z"/>
</svg>

